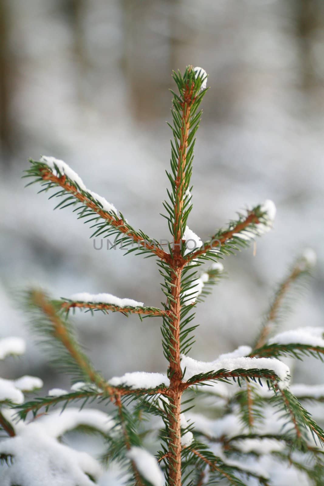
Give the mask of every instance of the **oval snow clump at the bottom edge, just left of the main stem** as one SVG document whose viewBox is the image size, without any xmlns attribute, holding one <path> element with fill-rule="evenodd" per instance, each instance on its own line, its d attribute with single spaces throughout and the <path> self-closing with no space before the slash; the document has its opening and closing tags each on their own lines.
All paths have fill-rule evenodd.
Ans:
<svg viewBox="0 0 324 486">
<path fill-rule="evenodd" d="M 141 447 L 132 447 L 127 456 L 135 462 L 138 472 L 153 486 L 164 485 L 164 474 L 157 460 L 150 452 Z"/>
</svg>

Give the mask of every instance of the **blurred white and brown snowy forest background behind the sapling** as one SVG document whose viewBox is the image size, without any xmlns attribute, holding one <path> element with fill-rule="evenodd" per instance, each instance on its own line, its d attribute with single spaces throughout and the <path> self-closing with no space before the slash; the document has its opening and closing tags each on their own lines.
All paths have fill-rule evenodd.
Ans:
<svg viewBox="0 0 324 486">
<path fill-rule="evenodd" d="M 67 377 L 34 344 L 15 292 L 108 292 L 159 306 L 154 259 L 95 250 L 70 208 L 23 189 L 28 157 L 61 158 L 87 187 L 155 238 L 168 238 L 162 200 L 170 160 L 172 69 L 208 73 L 189 226 L 203 240 L 245 205 L 270 198 L 273 231 L 224 260 L 191 356 L 211 361 L 254 339 L 275 283 L 313 247 L 319 265 L 287 327 L 323 325 L 323 0 L 0 0 L 1 337 L 28 352 L 1 364 L 53 386 Z M 165 371 L 158 319 L 78 313 L 78 334 L 109 378 Z M 323 380 L 323 365 L 297 381 Z M 315 367 L 318 372 L 315 372 Z M 23 369 L 22 369 L 23 368 Z"/>
</svg>

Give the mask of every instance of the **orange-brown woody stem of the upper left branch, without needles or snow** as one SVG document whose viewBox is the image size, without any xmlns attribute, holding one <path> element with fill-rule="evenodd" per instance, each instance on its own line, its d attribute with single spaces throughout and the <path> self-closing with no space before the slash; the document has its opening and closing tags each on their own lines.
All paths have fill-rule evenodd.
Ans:
<svg viewBox="0 0 324 486">
<path fill-rule="evenodd" d="M 134 242 L 143 246 L 146 250 L 150 250 L 160 259 L 166 260 L 169 258 L 169 254 L 166 253 L 164 250 L 156 247 L 156 245 L 153 245 L 146 240 L 143 240 L 143 237 L 141 235 L 138 235 L 136 232 L 132 231 L 125 224 L 123 219 L 119 219 L 117 215 L 113 216 L 109 212 L 103 210 L 102 208 L 97 206 L 93 201 L 91 201 L 91 199 L 87 197 L 85 193 L 78 191 L 72 184 L 70 184 L 67 181 L 67 177 L 65 175 L 58 177 L 54 175 L 50 169 L 44 166 L 39 167 L 39 175 L 44 181 L 53 182 L 54 184 L 64 189 L 66 192 L 72 194 L 73 197 L 79 200 L 86 207 L 90 208 L 93 212 L 97 213 L 103 220 L 109 222 L 109 224 L 111 226 L 114 226 L 120 233 L 127 235 Z"/>
</svg>

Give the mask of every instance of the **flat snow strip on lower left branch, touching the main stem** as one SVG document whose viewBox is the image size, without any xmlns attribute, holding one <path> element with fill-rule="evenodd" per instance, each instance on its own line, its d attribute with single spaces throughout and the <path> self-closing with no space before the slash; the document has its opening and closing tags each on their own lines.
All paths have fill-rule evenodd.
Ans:
<svg viewBox="0 0 324 486">
<path fill-rule="evenodd" d="M 137 388 L 156 388 L 159 385 L 169 386 L 169 378 L 162 373 L 147 373 L 145 371 L 134 371 L 125 373 L 123 376 L 114 376 L 109 380 L 112 386 L 130 386 L 133 390 Z"/>
</svg>

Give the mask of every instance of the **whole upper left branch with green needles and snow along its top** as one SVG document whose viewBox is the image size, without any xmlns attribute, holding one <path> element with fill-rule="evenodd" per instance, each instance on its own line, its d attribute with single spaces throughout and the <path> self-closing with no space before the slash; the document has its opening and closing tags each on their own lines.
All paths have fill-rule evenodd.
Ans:
<svg viewBox="0 0 324 486">
<path fill-rule="evenodd" d="M 117 214 L 117 209 L 113 204 L 108 203 L 96 192 L 88 190 L 79 175 L 68 164 L 48 156 L 43 156 L 38 161 L 31 159 L 30 162 L 32 167 L 26 171 L 25 175 L 25 177 L 33 177 L 34 180 L 30 184 L 42 183 L 45 186 L 43 191 L 61 187 L 62 190 L 51 197 L 67 197 L 56 208 L 81 204 L 77 207 L 79 218 L 87 218 L 87 222 L 94 222 L 92 227 L 97 228 L 92 236 L 102 235 L 107 238 L 119 235 L 118 243 L 122 243 L 125 249 L 128 244 L 132 246 L 128 253 L 138 250 L 141 253 L 151 252 L 162 260 L 168 258 L 168 254 L 159 243 L 150 239 L 142 231 L 136 231 L 127 223 L 121 213 Z"/>
</svg>

